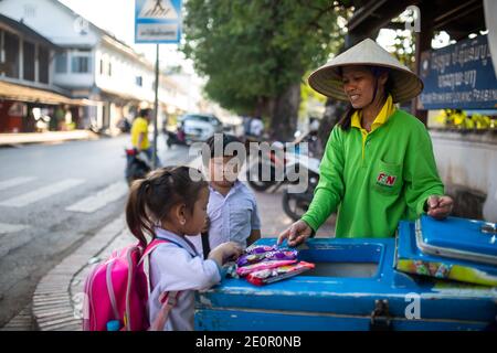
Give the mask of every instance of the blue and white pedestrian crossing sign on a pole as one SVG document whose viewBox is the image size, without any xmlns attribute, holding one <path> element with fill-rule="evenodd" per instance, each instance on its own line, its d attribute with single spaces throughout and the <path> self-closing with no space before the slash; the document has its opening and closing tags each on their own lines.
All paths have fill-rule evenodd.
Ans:
<svg viewBox="0 0 497 353">
<path fill-rule="evenodd" d="M 136 0 L 135 43 L 178 44 L 181 0 Z"/>
</svg>

